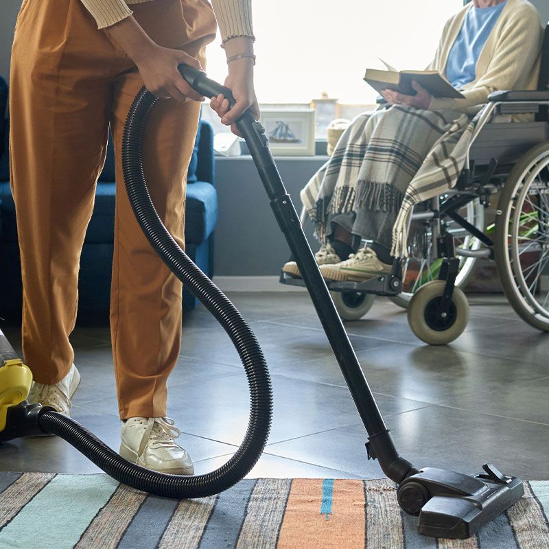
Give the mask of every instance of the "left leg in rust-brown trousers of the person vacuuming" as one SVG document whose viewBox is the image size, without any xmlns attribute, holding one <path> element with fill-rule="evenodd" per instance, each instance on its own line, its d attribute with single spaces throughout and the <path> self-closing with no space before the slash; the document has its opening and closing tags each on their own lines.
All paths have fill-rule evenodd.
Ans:
<svg viewBox="0 0 549 549">
<path fill-rule="evenodd" d="M 28 1 L 10 78 L 10 180 L 23 277 L 23 355 L 35 382 L 71 369 L 78 268 L 104 162 L 108 73 L 120 56 L 79 0 Z"/>
</svg>

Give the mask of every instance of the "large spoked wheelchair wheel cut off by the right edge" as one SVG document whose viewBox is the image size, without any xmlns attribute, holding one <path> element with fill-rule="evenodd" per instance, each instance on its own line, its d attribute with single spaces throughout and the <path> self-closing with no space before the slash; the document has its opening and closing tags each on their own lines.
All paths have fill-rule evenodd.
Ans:
<svg viewBox="0 0 549 549">
<path fill-rule="evenodd" d="M 549 143 L 522 156 L 506 180 L 495 220 L 495 264 L 509 303 L 549 331 Z"/>
</svg>

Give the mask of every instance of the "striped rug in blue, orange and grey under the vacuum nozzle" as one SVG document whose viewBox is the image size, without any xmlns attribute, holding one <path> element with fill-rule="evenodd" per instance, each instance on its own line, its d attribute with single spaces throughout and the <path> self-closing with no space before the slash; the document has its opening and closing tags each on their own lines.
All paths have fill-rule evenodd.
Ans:
<svg viewBox="0 0 549 549">
<path fill-rule="evenodd" d="M 104 474 L 0 473 L 0 548 L 549 548 L 549 481 L 465 541 L 417 534 L 388 480 L 243 480 L 200 500 L 156 498 Z"/>
</svg>

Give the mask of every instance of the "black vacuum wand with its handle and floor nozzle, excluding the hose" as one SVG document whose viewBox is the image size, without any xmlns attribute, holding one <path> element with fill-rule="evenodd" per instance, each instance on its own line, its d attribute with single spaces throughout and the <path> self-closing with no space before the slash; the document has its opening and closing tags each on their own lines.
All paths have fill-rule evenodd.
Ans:
<svg viewBox="0 0 549 549">
<path fill-rule="evenodd" d="M 222 93 L 231 108 L 235 99 L 229 89 L 207 78 L 205 73 L 181 65 L 180 73 L 198 93 L 213 97 Z M 347 332 L 307 242 L 299 216 L 286 192 L 268 148 L 265 130 L 246 111 L 236 121 L 270 198 L 270 205 L 305 281 L 320 322 L 369 434 L 369 458 L 377 458 L 388 478 L 399 484 L 401 509 L 419 515 L 418 530 L 436 537 L 467 538 L 517 502 L 524 494 L 522 480 L 505 476 L 491 464 L 474 476 L 426 467 L 418 471 L 399 456 L 381 412 L 366 382 Z"/>
</svg>

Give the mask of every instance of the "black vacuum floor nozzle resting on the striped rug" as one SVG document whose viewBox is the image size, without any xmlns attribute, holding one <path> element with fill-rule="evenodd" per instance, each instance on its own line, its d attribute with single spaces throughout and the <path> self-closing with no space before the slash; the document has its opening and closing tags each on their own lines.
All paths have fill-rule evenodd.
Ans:
<svg viewBox="0 0 549 549">
<path fill-rule="evenodd" d="M 427 467 L 399 485 L 402 509 L 419 514 L 420 534 L 466 539 L 509 509 L 524 495 L 524 484 L 504 476 L 493 465 L 483 465 L 485 474 L 469 476 Z"/>
</svg>

